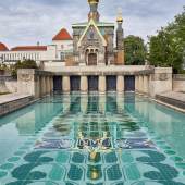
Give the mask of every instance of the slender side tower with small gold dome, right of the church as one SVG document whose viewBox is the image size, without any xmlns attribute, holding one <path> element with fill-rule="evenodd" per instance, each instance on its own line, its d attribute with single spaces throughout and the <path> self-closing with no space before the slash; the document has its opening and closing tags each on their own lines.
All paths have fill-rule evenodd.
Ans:
<svg viewBox="0 0 185 185">
<path fill-rule="evenodd" d="M 116 64 L 123 65 L 124 64 L 124 33 L 123 33 L 123 16 L 122 16 L 122 10 L 119 10 L 118 17 L 116 17 L 118 28 L 116 28 Z"/>
</svg>

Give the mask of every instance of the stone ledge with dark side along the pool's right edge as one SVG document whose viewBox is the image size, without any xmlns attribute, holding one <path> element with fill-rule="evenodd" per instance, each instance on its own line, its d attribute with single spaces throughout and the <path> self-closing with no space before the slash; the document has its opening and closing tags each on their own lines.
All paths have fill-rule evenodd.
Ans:
<svg viewBox="0 0 185 185">
<path fill-rule="evenodd" d="M 171 91 L 160 94 L 156 96 L 156 99 L 185 110 L 185 94 L 183 92 Z"/>
</svg>

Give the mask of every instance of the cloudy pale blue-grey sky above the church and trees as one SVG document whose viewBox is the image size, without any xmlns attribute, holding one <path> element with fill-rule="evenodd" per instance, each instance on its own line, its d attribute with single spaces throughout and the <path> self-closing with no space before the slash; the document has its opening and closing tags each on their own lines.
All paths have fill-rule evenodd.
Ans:
<svg viewBox="0 0 185 185">
<path fill-rule="evenodd" d="M 185 0 L 100 0 L 101 21 L 115 22 L 123 12 L 125 36 L 155 35 L 183 11 Z M 0 0 L 0 42 L 9 48 L 20 45 L 49 45 L 63 27 L 72 34 L 73 23 L 87 21 L 87 0 Z"/>
</svg>

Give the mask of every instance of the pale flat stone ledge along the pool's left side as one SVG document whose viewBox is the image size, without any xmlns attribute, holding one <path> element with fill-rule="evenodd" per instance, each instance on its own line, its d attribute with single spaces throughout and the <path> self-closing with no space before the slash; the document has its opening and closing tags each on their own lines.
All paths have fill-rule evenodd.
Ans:
<svg viewBox="0 0 185 185">
<path fill-rule="evenodd" d="M 5 104 L 12 101 L 16 101 L 18 99 L 24 99 L 33 97 L 32 95 L 21 95 L 21 94 L 8 94 L 8 95 L 1 95 L 0 96 L 0 104 Z"/>
</svg>

